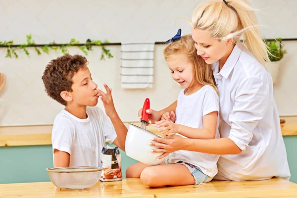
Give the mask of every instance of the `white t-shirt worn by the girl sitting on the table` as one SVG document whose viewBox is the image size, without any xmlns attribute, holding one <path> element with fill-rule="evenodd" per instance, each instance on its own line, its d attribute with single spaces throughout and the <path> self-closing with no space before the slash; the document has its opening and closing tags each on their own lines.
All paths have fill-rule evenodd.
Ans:
<svg viewBox="0 0 297 198">
<path fill-rule="evenodd" d="M 219 97 L 213 87 L 204 85 L 196 93 L 186 96 L 183 89 L 177 99 L 175 123 L 192 128 L 203 128 L 203 116 L 220 110 Z M 215 138 L 219 138 L 219 116 L 217 120 Z M 217 161 L 220 155 L 206 154 L 188 150 L 178 150 L 169 154 L 169 162 L 184 161 L 198 166 L 205 175 L 210 177 L 217 174 Z"/>
</svg>

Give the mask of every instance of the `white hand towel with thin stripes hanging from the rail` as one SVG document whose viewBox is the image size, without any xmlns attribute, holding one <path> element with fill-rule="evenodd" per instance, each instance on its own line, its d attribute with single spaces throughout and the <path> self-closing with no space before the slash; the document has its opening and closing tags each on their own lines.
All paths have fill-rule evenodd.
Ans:
<svg viewBox="0 0 297 198">
<path fill-rule="evenodd" d="M 121 43 L 121 87 L 152 88 L 154 42 Z"/>
</svg>

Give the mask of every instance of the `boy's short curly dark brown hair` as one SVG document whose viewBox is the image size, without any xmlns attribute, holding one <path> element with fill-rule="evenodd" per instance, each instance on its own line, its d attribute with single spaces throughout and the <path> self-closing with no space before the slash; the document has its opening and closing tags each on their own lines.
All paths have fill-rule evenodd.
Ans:
<svg viewBox="0 0 297 198">
<path fill-rule="evenodd" d="M 66 105 L 60 93 L 63 91 L 72 92 L 72 78 L 80 69 L 86 69 L 88 60 L 81 55 L 70 55 L 66 53 L 56 59 L 52 59 L 47 65 L 42 80 L 45 84 L 49 97 L 59 103 Z"/>
</svg>

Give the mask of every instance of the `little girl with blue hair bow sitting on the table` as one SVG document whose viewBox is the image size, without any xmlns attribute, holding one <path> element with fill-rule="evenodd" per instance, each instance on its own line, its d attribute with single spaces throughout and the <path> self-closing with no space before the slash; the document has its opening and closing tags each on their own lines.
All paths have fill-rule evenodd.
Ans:
<svg viewBox="0 0 297 198">
<path fill-rule="evenodd" d="M 163 135 L 178 133 L 187 138 L 219 138 L 219 98 L 211 65 L 197 55 L 191 35 L 177 34 L 169 42 L 163 51 L 164 57 L 172 78 L 183 90 L 177 100 L 175 123 L 160 121 L 158 126 L 165 127 Z M 163 144 L 159 148 L 164 148 Z M 129 171 L 138 170 L 141 181 L 149 187 L 206 183 L 217 173 L 218 158 L 219 155 L 180 150 L 168 155 L 161 165 L 132 165 L 127 177 Z"/>
</svg>

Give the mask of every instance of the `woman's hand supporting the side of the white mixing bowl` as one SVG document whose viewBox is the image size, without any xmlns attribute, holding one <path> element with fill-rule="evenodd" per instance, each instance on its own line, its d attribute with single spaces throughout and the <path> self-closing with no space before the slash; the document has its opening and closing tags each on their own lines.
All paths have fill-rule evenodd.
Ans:
<svg viewBox="0 0 297 198">
<path fill-rule="evenodd" d="M 155 142 L 150 142 L 148 144 L 158 148 L 151 151 L 163 153 L 158 156 L 157 159 L 161 159 L 171 152 L 183 150 L 183 148 L 187 147 L 187 145 L 185 144 L 186 138 L 183 138 L 179 135 L 171 135 L 167 136 L 166 138 L 153 138 L 152 140 Z"/>
</svg>

